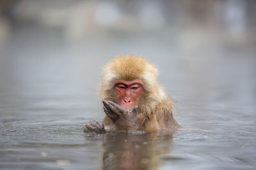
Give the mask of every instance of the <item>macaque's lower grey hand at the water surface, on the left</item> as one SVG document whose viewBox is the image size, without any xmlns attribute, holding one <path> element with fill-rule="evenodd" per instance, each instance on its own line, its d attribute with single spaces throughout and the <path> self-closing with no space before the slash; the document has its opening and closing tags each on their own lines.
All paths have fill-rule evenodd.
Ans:
<svg viewBox="0 0 256 170">
<path fill-rule="evenodd" d="M 84 133 L 105 133 L 104 125 L 102 123 L 99 124 L 96 120 L 90 120 L 89 122 L 87 122 L 84 126 L 83 131 Z"/>
</svg>

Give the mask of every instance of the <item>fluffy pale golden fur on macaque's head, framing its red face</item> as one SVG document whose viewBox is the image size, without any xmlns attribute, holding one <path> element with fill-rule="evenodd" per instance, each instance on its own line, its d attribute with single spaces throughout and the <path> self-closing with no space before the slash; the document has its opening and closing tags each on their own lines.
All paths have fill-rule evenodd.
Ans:
<svg viewBox="0 0 256 170">
<path fill-rule="evenodd" d="M 100 87 L 101 100 L 117 102 L 115 101 L 115 81 L 136 79 L 143 82 L 143 94 L 138 103 L 139 112 L 150 117 L 157 110 L 157 106 L 166 102 L 171 104 L 171 99 L 168 98 L 163 87 L 160 87 L 157 82 L 156 67 L 140 56 L 118 56 L 106 64 L 103 69 Z M 172 108 L 172 106 L 169 108 Z M 172 113 L 172 110 L 170 112 Z"/>
</svg>

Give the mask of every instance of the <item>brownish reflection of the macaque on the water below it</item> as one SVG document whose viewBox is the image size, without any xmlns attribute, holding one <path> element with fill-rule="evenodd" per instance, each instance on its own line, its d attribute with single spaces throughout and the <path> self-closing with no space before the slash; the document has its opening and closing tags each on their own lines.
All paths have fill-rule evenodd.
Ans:
<svg viewBox="0 0 256 170">
<path fill-rule="evenodd" d="M 86 136 L 86 139 L 92 139 Z M 170 153 L 172 134 L 107 133 L 103 142 L 102 169 L 157 169 L 160 157 Z"/>
</svg>

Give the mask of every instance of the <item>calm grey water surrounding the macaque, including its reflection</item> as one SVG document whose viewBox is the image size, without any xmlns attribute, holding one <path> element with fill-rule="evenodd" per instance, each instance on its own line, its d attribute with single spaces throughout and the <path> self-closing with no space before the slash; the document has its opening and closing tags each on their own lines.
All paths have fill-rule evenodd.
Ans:
<svg viewBox="0 0 256 170">
<path fill-rule="evenodd" d="M 0 168 L 255 169 L 255 50 L 184 53 L 164 34 L 148 36 L 73 44 L 58 31 L 14 30 L 0 57 Z M 127 53 L 159 67 L 159 81 L 178 101 L 175 134 L 83 133 L 85 122 L 104 117 L 101 67 Z"/>
</svg>

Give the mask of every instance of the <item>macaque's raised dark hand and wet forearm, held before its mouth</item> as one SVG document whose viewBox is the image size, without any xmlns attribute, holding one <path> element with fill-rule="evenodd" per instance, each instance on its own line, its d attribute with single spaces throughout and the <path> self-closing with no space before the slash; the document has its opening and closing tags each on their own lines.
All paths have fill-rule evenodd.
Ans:
<svg viewBox="0 0 256 170">
<path fill-rule="evenodd" d="M 104 104 L 104 111 L 109 118 L 113 121 L 115 129 L 117 130 L 131 130 L 139 129 L 137 122 L 138 106 L 133 110 L 127 110 L 116 103 L 111 101 L 102 101 Z"/>
</svg>

